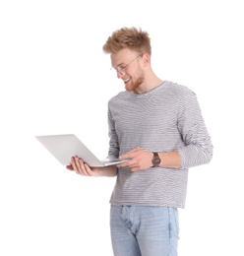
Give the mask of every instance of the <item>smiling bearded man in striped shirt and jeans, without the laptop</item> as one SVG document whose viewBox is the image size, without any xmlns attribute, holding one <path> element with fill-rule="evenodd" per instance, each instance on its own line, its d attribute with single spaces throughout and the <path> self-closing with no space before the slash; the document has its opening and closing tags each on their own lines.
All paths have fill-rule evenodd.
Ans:
<svg viewBox="0 0 244 256">
<path fill-rule="evenodd" d="M 176 256 L 178 212 L 188 168 L 210 162 L 213 146 L 195 94 L 152 71 L 148 32 L 122 28 L 103 45 L 125 92 L 108 102 L 109 156 L 131 160 L 67 166 L 87 176 L 117 176 L 110 228 L 116 256 Z"/>
</svg>

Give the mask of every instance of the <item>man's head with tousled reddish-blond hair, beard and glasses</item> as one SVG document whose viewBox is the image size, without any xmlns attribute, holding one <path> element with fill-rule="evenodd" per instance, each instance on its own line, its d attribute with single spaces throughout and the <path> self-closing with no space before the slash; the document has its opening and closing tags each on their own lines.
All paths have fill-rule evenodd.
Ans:
<svg viewBox="0 0 244 256">
<path fill-rule="evenodd" d="M 138 91 L 151 70 L 151 39 L 148 32 L 136 28 L 122 28 L 112 33 L 103 45 L 110 53 L 113 69 L 122 79 L 127 91 Z"/>
</svg>

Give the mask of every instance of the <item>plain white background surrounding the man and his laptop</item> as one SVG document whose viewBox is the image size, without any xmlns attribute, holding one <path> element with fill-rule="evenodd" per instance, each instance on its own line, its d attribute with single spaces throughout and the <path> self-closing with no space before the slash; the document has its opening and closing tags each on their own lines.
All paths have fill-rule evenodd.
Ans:
<svg viewBox="0 0 244 256">
<path fill-rule="evenodd" d="M 112 255 L 113 178 L 86 178 L 34 135 L 75 133 L 108 148 L 107 100 L 124 90 L 102 45 L 114 30 L 152 37 L 152 68 L 198 96 L 213 161 L 190 170 L 181 256 L 244 255 L 242 1 L 0 3 L 0 255 Z"/>
</svg>

